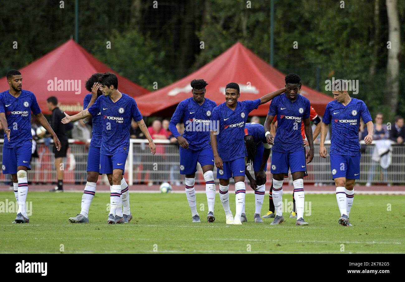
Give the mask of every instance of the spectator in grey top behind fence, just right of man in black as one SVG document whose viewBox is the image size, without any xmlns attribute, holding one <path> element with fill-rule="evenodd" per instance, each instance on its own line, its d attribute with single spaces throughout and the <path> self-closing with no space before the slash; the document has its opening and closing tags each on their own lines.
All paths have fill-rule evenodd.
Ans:
<svg viewBox="0 0 405 282">
<path fill-rule="evenodd" d="M 75 156 L 75 184 L 85 184 L 87 181 L 87 153 L 89 140 L 92 138 L 92 127 L 85 124 L 83 120 L 76 121 L 73 124 L 72 138 L 78 143 L 84 143 L 82 146 L 76 146 L 73 151 Z"/>
</svg>

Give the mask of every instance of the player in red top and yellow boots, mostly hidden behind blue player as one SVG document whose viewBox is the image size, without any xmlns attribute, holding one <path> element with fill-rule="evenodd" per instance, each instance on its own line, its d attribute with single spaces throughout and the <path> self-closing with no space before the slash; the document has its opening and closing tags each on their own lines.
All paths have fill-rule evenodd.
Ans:
<svg viewBox="0 0 405 282">
<path fill-rule="evenodd" d="M 318 114 L 315 112 L 315 109 L 312 108 L 312 106 L 311 106 L 311 112 L 309 114 L 309 119 L 313 122 L 313 124 L 316 125 L 315 130 L 312 133 L 313 140 L 315 140 L 318 137 L 319 133 L 321 132 L 322 121 L 321 121 L 320 117 L 318 116 Z M 277 116 L 274 117 L 273 122 L 270 125 L 271 135 L 273 135 L 273 136 L 276 135 L 276 129 L 277 129 Z M 301 123 L 301 135 L 303 136 L 304 147 L 309 146 L 308 141 L 305 136 L 304 123 Z M 307 177 L 307 176 L 308 176 L 308 173 L 305 170 L 304 177 Z M 288 177 L 288 173 L 286 173 L 286 175 L 284 177 Z M 269 192 L 269 200 L 270 200 L 269 211 L 265 215 L 263 215 L 263 218 L 274 217 L 274 203 L 273 203 L 272 193 L 273 193 L 273 183 L 271 184 L 270 192 Z M 296 215 L 296 209 L 295 209 L 294 193 L 292 194 L 292 202 L 294 204 L 294 207 L 291 212 L 290 218 L 292 218 L 292 217 L 296 218 L 297 215 Z"/>
</svg>

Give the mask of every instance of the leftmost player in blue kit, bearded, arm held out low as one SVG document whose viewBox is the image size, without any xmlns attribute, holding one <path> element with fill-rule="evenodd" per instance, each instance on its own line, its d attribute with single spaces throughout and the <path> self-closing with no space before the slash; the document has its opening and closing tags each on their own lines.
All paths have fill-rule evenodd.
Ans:
<svg viewBox="0 0 405 282">
<path fill-rule="evenodd" d="M 13 223 L 28 223 L 30 219 L 26 211 L 26 199 L 27 170 L 31 170 L 32 153 L 31 111 L 40 125 L 51 134 L 56 150 L 59 151 L 61 145 L 42 114 L 34 93 L 22 89 L 21 73 L 15 69 L 10 70 L 6 79 L 10 89 L 0 93 L 0 122 L 4 129 L 2 170 L 3 174 L 11 174 L 18 203 L 17 217 Z"/>
</svg>

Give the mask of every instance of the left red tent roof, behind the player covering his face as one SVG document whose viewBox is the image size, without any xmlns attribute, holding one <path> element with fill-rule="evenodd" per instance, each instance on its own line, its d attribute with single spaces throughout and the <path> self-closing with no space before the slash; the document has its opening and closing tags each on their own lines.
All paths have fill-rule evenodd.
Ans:
<svg viewBox="0 0 405 282">
<path fill-rule="evenodd" d="M 35 94 L 44 114 L 50 114 L 46 105 L 46 99 L 50 96 L 57 97 L 60 108 L 66 112 L 83 110 L 83 98 L 88 94 L 85 88 L 87 78 L 96 72 L 115 73 L 72 39 L 19 71 L 23 76 L 23 89 Z M 118 77 L 119 91 L 134 98 L 149 92 L 125 77 L 115 74 Z M 6 77 L 2 77 L 0 92 L 9 88 Z"/>
</svg>

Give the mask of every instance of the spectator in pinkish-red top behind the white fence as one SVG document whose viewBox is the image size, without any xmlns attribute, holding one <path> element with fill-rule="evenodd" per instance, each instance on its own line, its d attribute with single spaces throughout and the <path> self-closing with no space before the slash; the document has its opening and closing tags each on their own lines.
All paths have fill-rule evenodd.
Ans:
<svg viewBox="0 0 405 282">
<path fill-rule="evenodd" d="M 152 123 L 151 126 L 148 127 L 148 131 L 150 136 L 153 138 L 153 140 L 160 139 L 160 140 L 167 140 L 168 132 L 164 130 L 162 127 L 162 122 L 158 119 L 155 119 Z M 164 145 L 163 144 L 156 144 L 156 154 L 154 156 L 154 161 L 158 164 L 158 171 L 159 172 L 164 172 L 166 171 L 166 165 L 165 163 L 165 150 L 164 150 Z M 159 174 L 163 179 L 167 179 L 166 173 L 158 173 L 158 171 L 155 171 L 153 169 L 150 170 L 151 172 L 151 181 L 149 182 L 149 185 L 152 184 L 159 184 L 158 177 Z"/>
</svg>

